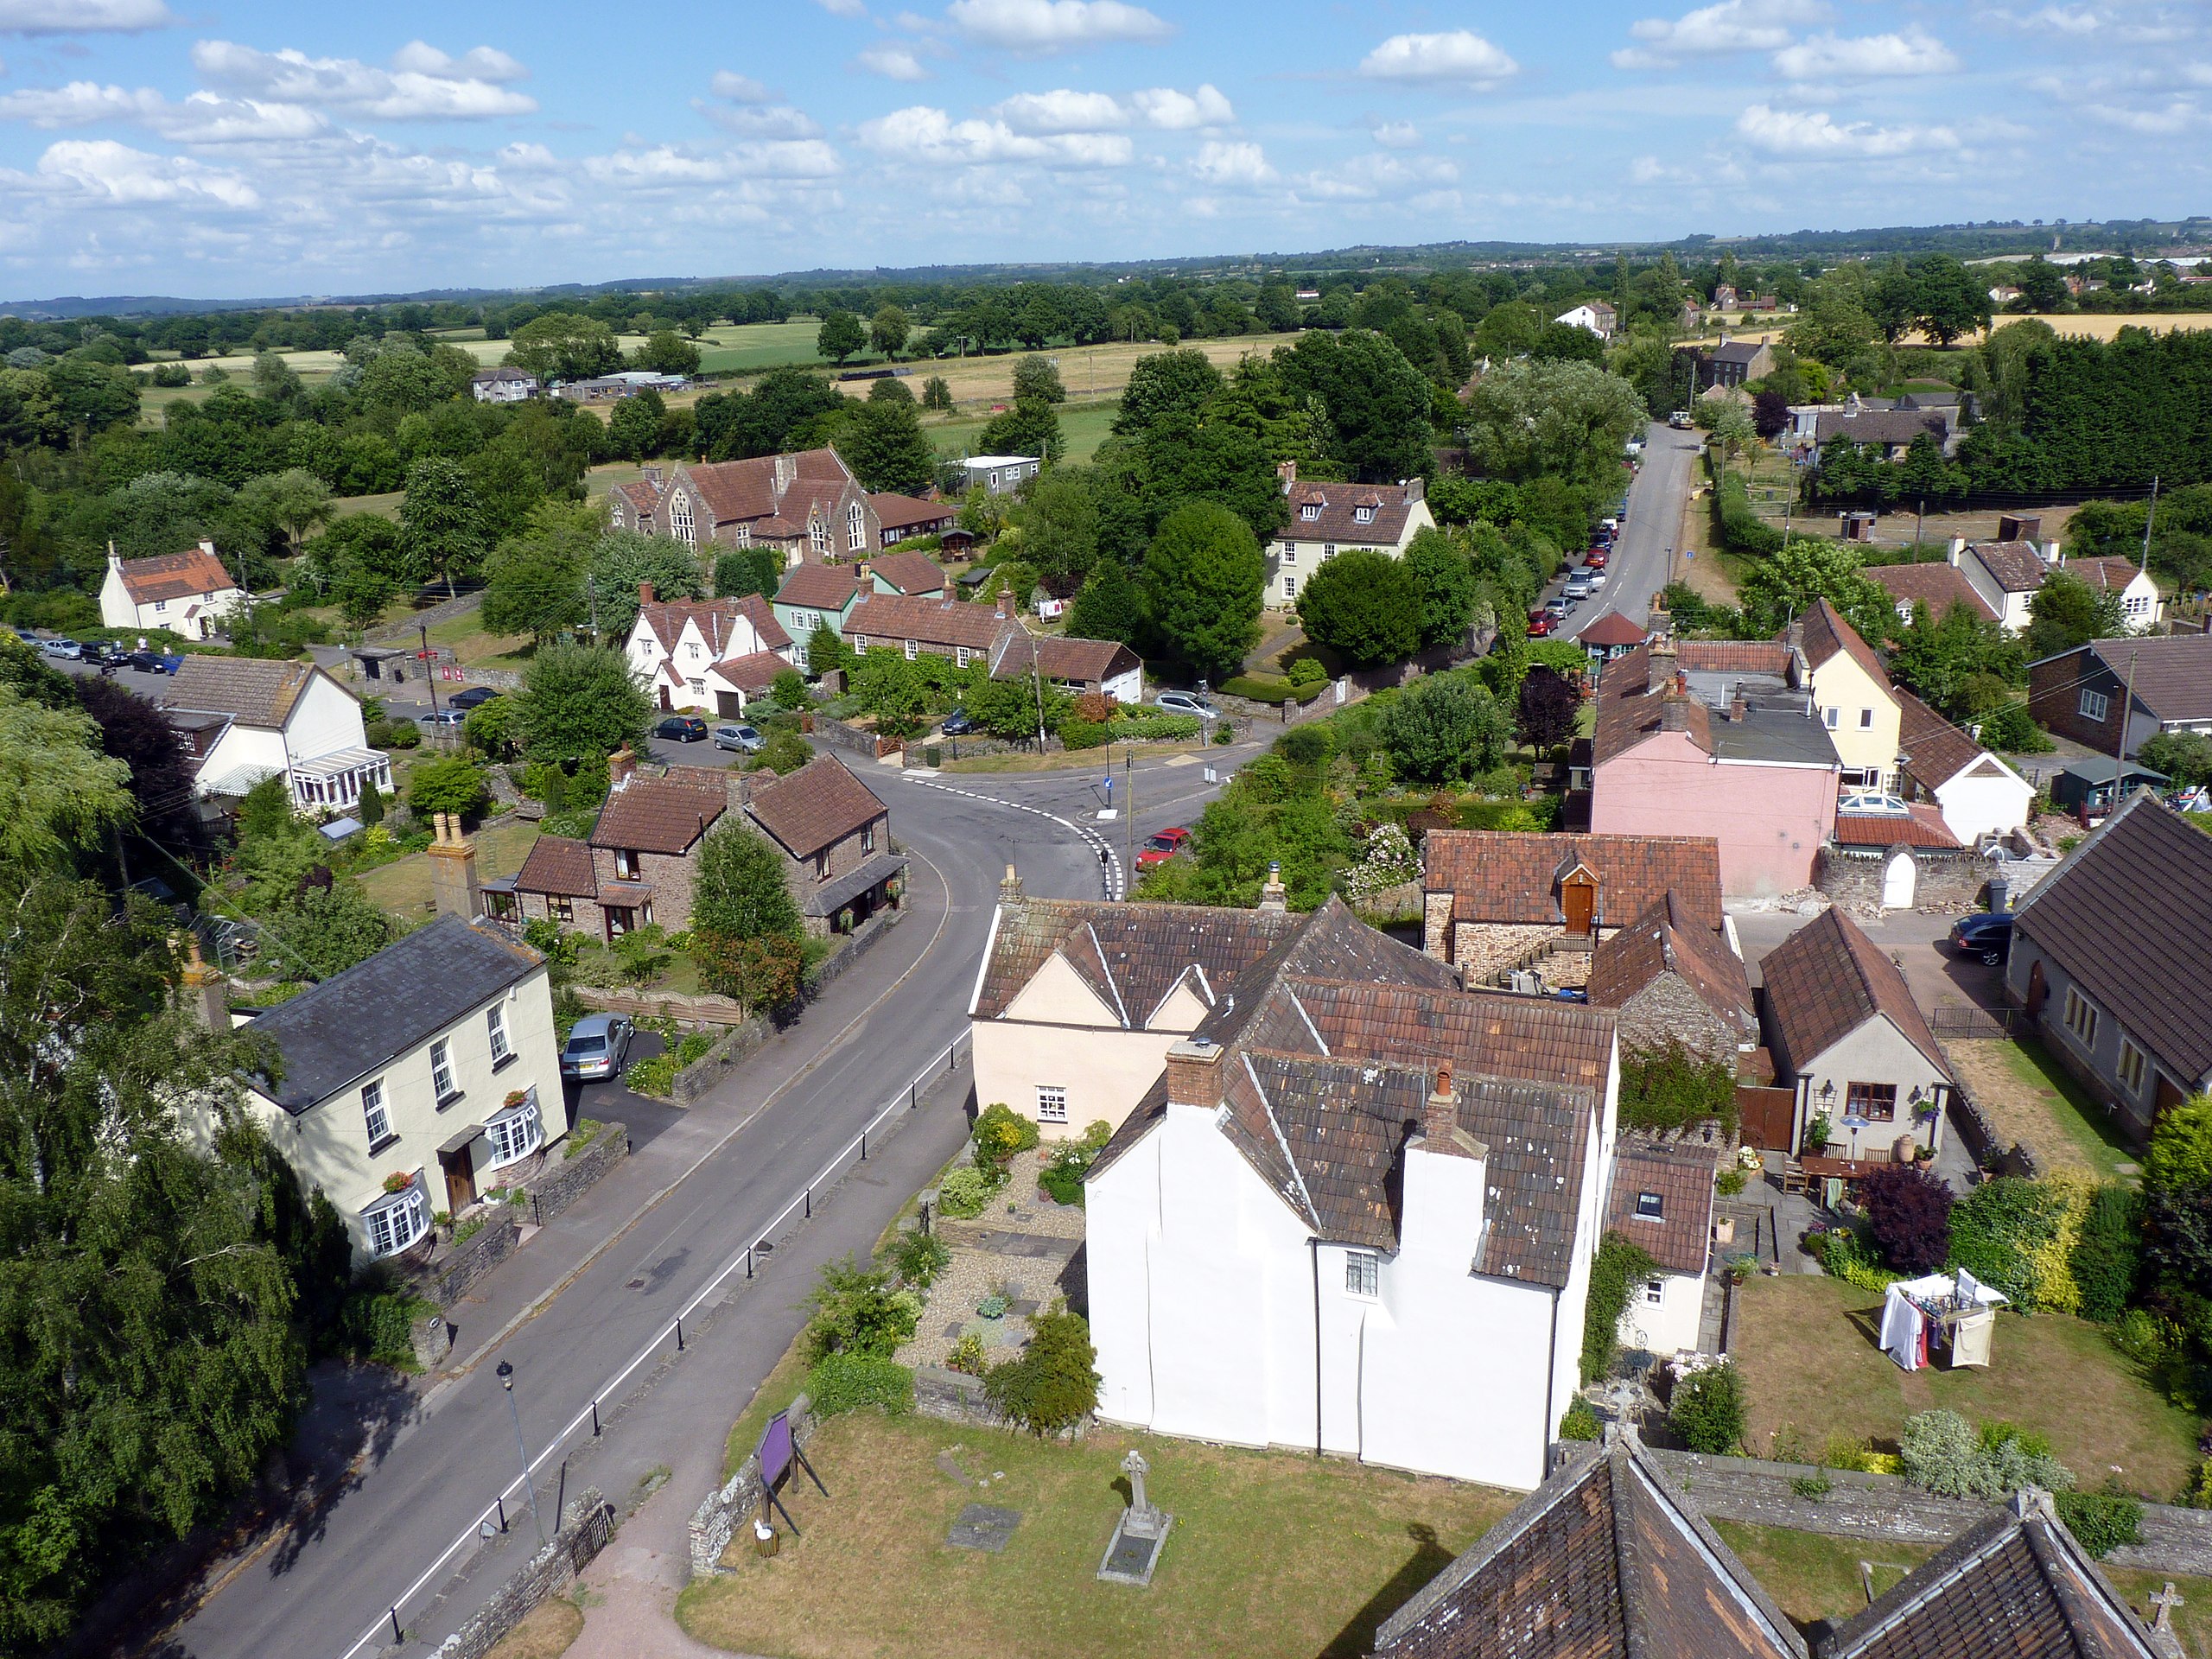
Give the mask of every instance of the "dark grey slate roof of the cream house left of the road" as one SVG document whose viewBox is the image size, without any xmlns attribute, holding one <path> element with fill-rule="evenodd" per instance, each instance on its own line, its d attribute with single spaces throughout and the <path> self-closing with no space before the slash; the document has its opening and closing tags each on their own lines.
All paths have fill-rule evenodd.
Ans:
<svg viewBox="0 0 2212 1659">
<path fill-rule="evenodd" d="M 429 1042 L 542 962 L 529 945 L 440 916 L 254 1020 L 254 1033 L 272 1037 L 283 1055 L 283 1077 L 257 1088 L 299 1115 Z"/>
</svg>

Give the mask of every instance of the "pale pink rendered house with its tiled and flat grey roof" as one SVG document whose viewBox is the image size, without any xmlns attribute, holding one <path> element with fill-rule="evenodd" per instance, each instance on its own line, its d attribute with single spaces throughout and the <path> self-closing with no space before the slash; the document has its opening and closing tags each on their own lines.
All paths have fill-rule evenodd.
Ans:
<svg viewBox="0 0 2212 1659">
<path fill-rule="evenodd" d="M 1807 692 L 1783 677 L 1785 648 L 1686 641 L 1679 650 L 1657 639 L 1599 679 L 1590 832 L 1712 836 L 1728 898 L 1812 887 L 1814 858 L 1836 830 L 1843 761 Z"/>
</svg>

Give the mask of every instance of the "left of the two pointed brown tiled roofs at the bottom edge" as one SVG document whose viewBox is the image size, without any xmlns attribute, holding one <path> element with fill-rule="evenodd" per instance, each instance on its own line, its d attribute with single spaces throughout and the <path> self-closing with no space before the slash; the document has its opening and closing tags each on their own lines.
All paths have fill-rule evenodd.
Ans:
<svg viewBox="0 0 2212 1659">
<path fill-rule="evenodd" d="M 1383 1621 L 1376 1659 L 1805 1659 L 1632 1438 L 1571 1458 Z"/>
</svg>

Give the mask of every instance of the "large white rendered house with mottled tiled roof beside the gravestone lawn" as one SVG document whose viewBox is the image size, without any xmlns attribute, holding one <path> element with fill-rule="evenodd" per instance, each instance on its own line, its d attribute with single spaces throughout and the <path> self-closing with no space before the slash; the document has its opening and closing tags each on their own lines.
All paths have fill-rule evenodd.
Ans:
<svg viewBox="0 0 2212 1659">
<path fill-rule="evenodd" d="M 1537 1486 L 1606 1217 L 1610 1015 L 1369 975 L 1234 1002 L 1088 1175 L 1099 1416 Z"/>
</svg>

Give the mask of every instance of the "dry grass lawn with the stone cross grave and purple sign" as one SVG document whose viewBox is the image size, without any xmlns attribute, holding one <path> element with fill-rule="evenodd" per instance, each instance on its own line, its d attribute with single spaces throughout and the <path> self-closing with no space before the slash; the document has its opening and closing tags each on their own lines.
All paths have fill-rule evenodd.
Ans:
<svg viewBox="0 0 2212 1659">
<path fill-rule="evenodd" d="M 1150 1590 L 1095 1573 L 1141 1444 L 1175 1513 Z M 938 1469 L 951 1455 L 964 1478 Z M 1354 1659 L 1376 1626 L 1473 1544 L 1511 1493 L 1296 1453 L 1095 1429 L 1068 1447 L 931 1418 L 834 1418 L 810 1447 L 834 1498 L 792 1498 L 805 1528 L 776 1559 L 684 1590 L 677 1619 L 779 1659 Z M 803 1482 L 801 1482 L 803 1484 Z M 987 1489 L 987 1491 L 984 1491 Z M 1015 1509 L 1002 1555 L 951 1551 L 969 1502 Z"/>
</svg>

